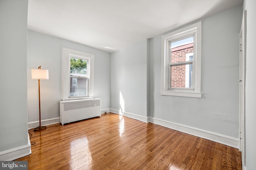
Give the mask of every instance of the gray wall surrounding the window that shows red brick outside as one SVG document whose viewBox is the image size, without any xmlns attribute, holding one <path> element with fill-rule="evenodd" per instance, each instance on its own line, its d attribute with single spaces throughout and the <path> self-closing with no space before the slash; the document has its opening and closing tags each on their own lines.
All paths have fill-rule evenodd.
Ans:
<svg viewBox="0 0 256 170">
<path fill-rule="evenodd" d="M 161 36 L 150 39 L 150 117 L 238 138 L 242 6 L 202 19 L 202 98 L 161 96 Z"/>
</svg>

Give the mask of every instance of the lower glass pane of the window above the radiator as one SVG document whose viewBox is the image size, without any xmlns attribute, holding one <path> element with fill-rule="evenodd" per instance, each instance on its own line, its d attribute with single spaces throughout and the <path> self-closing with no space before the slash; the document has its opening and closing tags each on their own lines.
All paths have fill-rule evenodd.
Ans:
<svg viewBox="0 0 256 170">
<path fill-rule="evenodd" d="M 76 85 L 74 85 L 74 81 Z M 87 78 L 70 78 L 70 96 L 87 96 Z"/>
</svg>

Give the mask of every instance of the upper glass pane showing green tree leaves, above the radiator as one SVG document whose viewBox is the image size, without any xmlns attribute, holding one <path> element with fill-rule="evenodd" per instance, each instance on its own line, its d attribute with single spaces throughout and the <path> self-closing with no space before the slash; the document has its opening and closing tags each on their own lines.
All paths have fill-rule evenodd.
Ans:
<svg viewBox="0 0 256 170">
<path fill-rule="evenodd" d="M 70 74 L 87 75 L 87 60 L 70 57 Z"/>
</svg>

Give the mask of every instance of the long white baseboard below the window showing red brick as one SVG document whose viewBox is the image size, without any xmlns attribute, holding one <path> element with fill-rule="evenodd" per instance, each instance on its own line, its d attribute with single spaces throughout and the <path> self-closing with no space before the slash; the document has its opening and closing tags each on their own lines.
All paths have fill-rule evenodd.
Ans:
<svg viewBox="0 0 256 170">
<path fill-rule="evenodd" d="M 227 145 L 233 148 L 238 149 L 239 148 L 239 139 L 238 138 L 234 138 L 234 137 L 230 137 L 227 135 L 222 135 L 219 133 L 214 133 L 211 131 L 206 131 L 203 129 L 199 129 L 196 127 L 190 127 L 190 126 L 186 126 L 186 125 L 182 125 L 179 123 L 174 123 L 174 122 L 170 122 L 170 121 L 165 121 L 165 120 L 161 120 L 161 119 L 156 119 L 153 117 L 148 117 L 149 122 L 154 123 L 156 125 L 160 125 L 163 127 L 167 127 L 176 131 L 180 131 L 183 133 L 187 133 L 190 135 L 194 135 L 197 137 L 201 137 L 204 139 L 208 139 L 210 141 L 214 141 L 217 143 L 221 143 L 223 145 Z"/>
</svg>

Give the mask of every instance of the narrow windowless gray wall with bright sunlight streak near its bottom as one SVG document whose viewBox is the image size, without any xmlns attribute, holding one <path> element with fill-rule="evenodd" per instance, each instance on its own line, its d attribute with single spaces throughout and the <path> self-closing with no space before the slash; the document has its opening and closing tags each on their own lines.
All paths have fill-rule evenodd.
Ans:
<svg viewBox="0 0 256 170">
<path fill-rule="evenodd" d="M 148 40 L 111 54 L 111 108 L 147 116 Z"/>
</svg>

